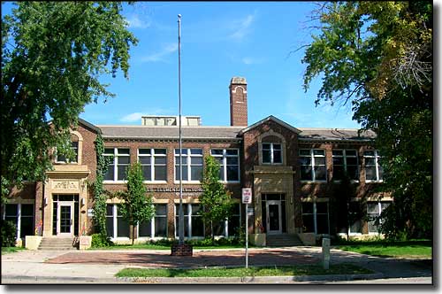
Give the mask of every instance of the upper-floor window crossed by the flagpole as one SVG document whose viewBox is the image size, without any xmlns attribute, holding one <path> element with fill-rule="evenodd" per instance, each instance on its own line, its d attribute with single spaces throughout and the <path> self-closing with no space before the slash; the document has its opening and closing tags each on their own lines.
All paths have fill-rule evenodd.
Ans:
<svg viewBox="0 0 442 294">
<path fill-rule="evenodd" d="M 182 178 L 185 182 L 201 182 L 202 149 L 182 149 Z M 179 181 L 179 149 L 175 149 L 175 181 Z"/>
</svg>

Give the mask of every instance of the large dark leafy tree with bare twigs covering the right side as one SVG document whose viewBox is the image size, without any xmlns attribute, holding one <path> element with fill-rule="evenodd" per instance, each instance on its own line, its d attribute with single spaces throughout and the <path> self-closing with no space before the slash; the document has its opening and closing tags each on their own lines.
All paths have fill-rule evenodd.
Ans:
<svg viewBox="0 0 442 294">
<path fill-rule="evenodd" d="M 432 231 L 432 4 L 324 3 L 302 62 L 303 87 L 321 75 L 316 104 L 351 102 L 354 120 L 376 132 L 385 171 L 390 236 Z M 405 205 L 407 204 L 407 205 Z M 391 213 L 388 213 L 391 212 Z M 392 213 L 395 212 L 395 213 Z"/>
</svg>

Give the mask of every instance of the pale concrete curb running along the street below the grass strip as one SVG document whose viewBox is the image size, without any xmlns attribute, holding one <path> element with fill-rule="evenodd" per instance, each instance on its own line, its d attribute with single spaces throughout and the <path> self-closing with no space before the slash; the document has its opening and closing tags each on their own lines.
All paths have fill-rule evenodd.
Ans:
<svg viewBox="0 0 442 294">
<path fill-rule="evenodd" d="M 286 276 L 247 276 L 247 277 L 198 277 L 198 278 L 173 278 L 173 277 L 133 277 L 133 278 L 93 278 L 86 276 L 44 276 L 44 275 L 2 275 L 3 284 L 22 284 L 22 283 L 159 283 L 159 284 L 195 284 L 195 283 L 293 283 L 293 282 L 337 282 L 354 280 L 373 280 L 381 279 L 382 273 L 364 274 L 364 275 L 286 275 Z"/>
</svg>

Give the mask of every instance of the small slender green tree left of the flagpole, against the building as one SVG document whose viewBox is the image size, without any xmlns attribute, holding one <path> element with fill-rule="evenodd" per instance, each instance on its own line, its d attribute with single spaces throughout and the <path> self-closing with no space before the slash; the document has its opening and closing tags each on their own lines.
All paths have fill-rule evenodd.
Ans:
<svg viewBox="0 0 442 294">
<path fill-rule="evenodd" d="M 144 186 L 144 177 L 141 164 L 132 164 L 127 168 L 127 191 L 118 192 L 118 197 L 123 200 L 120 213 L 129 225 L 132 226 L 132 244 L 135 236 L 135 226 L 143 221 L 151 220 L 155 215 L 152 196 L 147 196 Z"/>
</svg>

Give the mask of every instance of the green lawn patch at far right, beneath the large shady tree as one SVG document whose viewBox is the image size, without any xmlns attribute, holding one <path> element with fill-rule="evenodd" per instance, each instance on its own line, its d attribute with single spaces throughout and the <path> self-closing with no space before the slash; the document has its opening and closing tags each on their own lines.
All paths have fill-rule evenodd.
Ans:
<svg viewBox="0 0 442 294">
<path fill-rule="evenodd" d="M 349 242 L 336 248 L 343 251 L 352 251 L 362 254 L 396 257 L 396 258 L 428 258 L 431 259 L 431 241 L 404 241 L 404 242 Z"/>
</svg>

